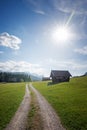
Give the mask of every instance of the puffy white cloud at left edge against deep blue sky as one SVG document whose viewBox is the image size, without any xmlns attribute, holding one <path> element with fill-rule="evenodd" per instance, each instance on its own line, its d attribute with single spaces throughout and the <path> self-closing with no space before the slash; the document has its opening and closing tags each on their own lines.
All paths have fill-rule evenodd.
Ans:
<svg viewBox="0 0 87 130">
<path fill-rule="evenodd" d="M 0 46 L 5 46 L 17 50 L 20 48 L 19 44 L 21 42 L 22 41 L 20 38 L 14 35 L 10 35 L 7 32 L 0 34 Z"/>
</svg>

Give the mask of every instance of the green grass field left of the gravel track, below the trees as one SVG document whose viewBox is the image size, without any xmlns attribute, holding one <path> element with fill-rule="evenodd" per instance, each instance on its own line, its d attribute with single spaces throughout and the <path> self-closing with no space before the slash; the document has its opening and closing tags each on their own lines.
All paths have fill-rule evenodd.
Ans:
<svg viewBox="0 0 87 130">
<path fill-rule="evenodd" d="M 0 83 L 0 130 L 6 127 L 25 94 L 25 83 Z"/>
</svg>

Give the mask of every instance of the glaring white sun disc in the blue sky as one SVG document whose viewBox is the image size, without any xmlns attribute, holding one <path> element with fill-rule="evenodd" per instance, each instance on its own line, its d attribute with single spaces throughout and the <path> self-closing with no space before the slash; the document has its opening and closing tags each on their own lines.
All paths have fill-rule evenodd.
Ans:
<svg viewBox="0 0 87 130">
<path fill-rule="evenodd" d="M 57 27 L 53 30 L 52 37 L 55 42 L 64 43 L 70 40 L 70 31 L 67 27 Z"/>
</svg>

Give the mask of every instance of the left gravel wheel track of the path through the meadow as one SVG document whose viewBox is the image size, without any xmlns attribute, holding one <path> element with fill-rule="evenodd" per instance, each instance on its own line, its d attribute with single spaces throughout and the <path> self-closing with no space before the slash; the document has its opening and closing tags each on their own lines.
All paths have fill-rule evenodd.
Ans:
<svg viewBox="0 0 87 130">
<path fill-rule="evenodd" d="M 26 92 L 22 103 L 20 104 L 15 116 L 4 130 L 25 130 L 27 123 L 27 116 L 30 107 L 30 92 L 26 84 Z"/>
</svg>

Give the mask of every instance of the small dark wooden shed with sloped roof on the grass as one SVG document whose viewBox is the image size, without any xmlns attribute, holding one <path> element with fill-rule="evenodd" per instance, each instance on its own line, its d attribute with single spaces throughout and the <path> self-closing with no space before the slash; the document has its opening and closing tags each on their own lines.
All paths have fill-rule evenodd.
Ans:
<svg viewBox="0 0 87 130">
<path fill-rule="evenodd" d="M 52 70 L 50 74 L 53 83 L 69 82 L 70 76 L 69 71 L 65 70 Z"/>
</svg>

